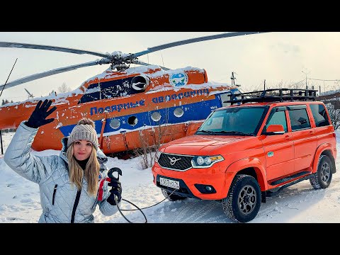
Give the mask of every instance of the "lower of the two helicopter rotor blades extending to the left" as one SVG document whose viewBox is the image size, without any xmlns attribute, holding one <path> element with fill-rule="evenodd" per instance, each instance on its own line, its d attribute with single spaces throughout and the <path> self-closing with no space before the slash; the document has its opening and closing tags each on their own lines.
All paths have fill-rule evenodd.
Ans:
<svg viewBox="0 0 340 255">
<path fill-rule="evenodd" d="M 72 71 L 72 70 L 75 70 L 75 69 L 78 69 L 78 68 L 81 68 L 81 67 L 91 67 L 91 66 L 94 66 L 94 65 L 97 65 L 97 64 L 109 64 L 109 63 L 110 63 L 109 60 L 101 59 L 101 60 L 86 62 L 86 63 L 83 63 L 83 64 L 74 64 L 74 65 L 69 66 L 69 67 L 61 67 L 61 68 L 58 68 L 58 69 L 52 69 L 52 70 L 47 71 L 47 72 L 42 72 L 42 73 L 39 73 L 39 74 L 33 74 L 33 75 L 28 76 L 28 77 L 23 77 L 21 79 L 11 81 L 11 82 L 6 84 L 5 88 L 4 88 L 4 85 L 1 85 L 0 89 L 2 89 L 2 88 L 8 89 L 8 88 L 11 88 L 13 86 L 18 86 L 20 84 L 24 84 L 24 83 L 29 82 L 29 81 L 34 81 L 36 79 L 48 77 L 48 76 L 51 76 L 53 74 L 60 74 L 62 72 Z"/>
</svg>

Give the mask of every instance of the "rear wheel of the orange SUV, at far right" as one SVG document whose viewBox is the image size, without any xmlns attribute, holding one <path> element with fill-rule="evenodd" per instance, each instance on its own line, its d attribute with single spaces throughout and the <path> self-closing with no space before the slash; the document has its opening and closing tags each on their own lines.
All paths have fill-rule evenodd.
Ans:
<svg viewBox="0 0 340 255">
<path fill-rule="evenodd" d="M 327 155 L 321 155 L 317 162 L 317 171 L 310 178 L 310 184 L 315 189 L 327 188 L 332 176 L 331 159 Z"/>
</svg>

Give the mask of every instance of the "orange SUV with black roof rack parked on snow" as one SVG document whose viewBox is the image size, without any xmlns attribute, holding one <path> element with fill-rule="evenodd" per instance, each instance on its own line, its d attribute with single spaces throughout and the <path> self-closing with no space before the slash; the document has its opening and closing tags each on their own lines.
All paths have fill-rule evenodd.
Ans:
<svg viewBox="0 0 340 255">
<path fill-rule="evenodd" d="M 154 184 L 171 201 L 218 200 L 237 222 L 253 220 L 266 197 L 299 181 L 327 188 L 336 172 L 336 134 L 316 92 L 233 95 L 194 135 L 159 148 Z"/>
</svg>

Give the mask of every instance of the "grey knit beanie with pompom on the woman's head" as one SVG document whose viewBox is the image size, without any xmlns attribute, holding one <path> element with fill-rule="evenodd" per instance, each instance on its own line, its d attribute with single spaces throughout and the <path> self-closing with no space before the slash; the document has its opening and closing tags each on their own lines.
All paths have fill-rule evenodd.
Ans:
<svg viewBox="0 0 340 255">
<path fill-rule="evenodd" d="M 79 120 L 77 125 L 73 128 L 69 138 L 67 139 L 67 148 L 77 140 L 87 140 L 92 142 L 92 145 L 98 149 L 97 132 L 94 129 L 94 122 L 88 118 Z"/>
</svg>

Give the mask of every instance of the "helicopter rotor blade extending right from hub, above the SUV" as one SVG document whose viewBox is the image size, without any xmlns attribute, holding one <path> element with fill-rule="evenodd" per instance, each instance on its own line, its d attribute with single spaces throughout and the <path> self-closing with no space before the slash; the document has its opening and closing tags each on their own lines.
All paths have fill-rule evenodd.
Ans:
<svg viewBox="0 0 340 255">
<path fill-rule="evenodd" d="M 168 49 L 170 47 L 176 47 L 179 45 L 186 45 L 186 44 L 193 43 L 193 42 L 203 42 L 205 40 L 215 40 L 215 39 L 220 39 L 220 38 L 228 38 L 228 37 L 234 37 L 234 36 L 240 36 L 240 35 L 251 35 L 251 34 L 257 34 L 257 33 L 267 33 L 267 32 L 232 32 L 232 33 L 222 33 L 218 35 L 208 35 L 208 36 L 192 38 L 188 40 L 180 40 L 178 42 L 170 42 L 170 43 L 166 43 L 164 45 L 159 45 L 155 47 L 149 47 L 147 48 L 147 50 L 143 50 L 142 52 L 137 52 L 133 55 L 135 57 L 140 57 L 142 55 L 149 54 L 151 52 L 156 52 L 158 50 L 164 50 L 164 49 Z"/>
</svg>

